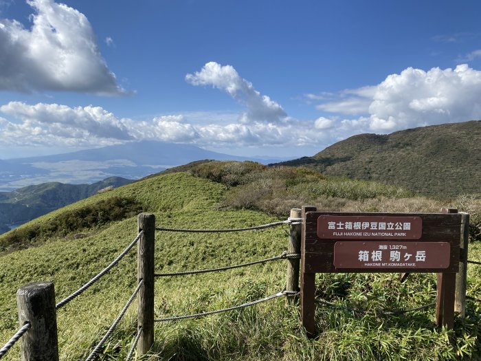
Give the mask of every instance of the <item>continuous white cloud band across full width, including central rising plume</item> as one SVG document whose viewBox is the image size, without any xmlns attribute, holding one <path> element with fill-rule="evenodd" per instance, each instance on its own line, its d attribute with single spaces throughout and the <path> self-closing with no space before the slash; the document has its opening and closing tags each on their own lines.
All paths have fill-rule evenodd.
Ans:
<svg viewBox="0 0 481 361">
<path fill-rule="evenodd" d="M 119 118 L 92 105 L 8 102 L 0 105 L 0 142 L 6 146 L 97 147 L 161 140 L 211 149 L 321 148 L 320 144 L 326 146 L 359 133 L 391 133 L 481 118 L 481 72 L 468 65 L 427 72 L 410 67 L 386 77 L 379 85 L 346 89 L 339 94 L 308 94 L 311 104 L 324 112 L 313 120 L 289 116 L 278 102 L 256 91 L 230 65 L 207 63 L 199 72 L 187 74 L 186 81 L 225 91 L 245 110 L 237 116 L 179 113 L 138 121 Z M 227 121 L 219 122 L 219 118 Z"/>
</svg>

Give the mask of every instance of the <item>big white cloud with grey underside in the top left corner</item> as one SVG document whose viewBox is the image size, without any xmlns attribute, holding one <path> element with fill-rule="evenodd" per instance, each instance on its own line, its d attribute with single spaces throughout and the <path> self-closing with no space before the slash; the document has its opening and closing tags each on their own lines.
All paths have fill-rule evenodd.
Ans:
<svg viewBox="0 0 481 361">
<path fill-rule="evenodd" d="M 100 55 L 84 14 L 53 0 L 27 0 L 32 28 L 0 19 L 0 90 L 125 94 Z"/>
</svg>

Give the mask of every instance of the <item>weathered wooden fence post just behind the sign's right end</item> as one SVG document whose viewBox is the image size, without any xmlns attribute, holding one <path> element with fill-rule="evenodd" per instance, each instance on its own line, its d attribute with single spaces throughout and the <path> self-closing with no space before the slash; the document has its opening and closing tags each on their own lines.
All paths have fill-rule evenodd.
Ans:
<svg viewBox="0 0 481 361">
<path fill-rule="evenodd" d="M 459 272 L 456 274 L 456 292 L 454 311 L 459 312 L 461 318 L 466 315 L 466 281 L 469 241 L 469 214 L 461 216 L 461 241 L 459 250 Z"/>
</svg>

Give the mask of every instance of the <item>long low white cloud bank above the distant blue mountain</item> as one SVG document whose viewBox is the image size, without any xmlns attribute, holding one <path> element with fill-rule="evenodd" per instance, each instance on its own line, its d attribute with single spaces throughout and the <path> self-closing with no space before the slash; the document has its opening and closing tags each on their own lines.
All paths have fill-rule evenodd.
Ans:
<svg viewBox="0 0 481 361">
<path fill-rule="evenodd" d="M 2 105 L 2 113 L 12 120 L 0 116 L 0 140 L 11 146 L 107 146 L 139 140 L 214 147 L 298 146 L 315 144 L 322 137 L 322 127 L 313 127 L 311 133 L 306 133 L 298 120 L 292 124 L 194 124 L 188 122 L 187 113 L 137 121 L 117 118 L 102 107 L 91 105 L 72 108 L 25 102 Z"/>
</svg>

